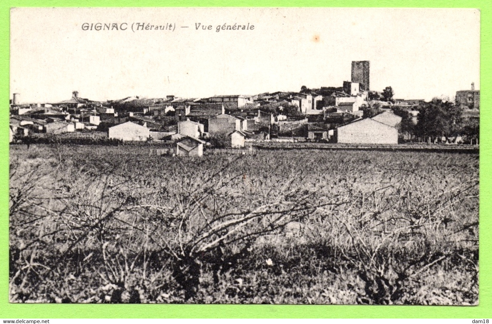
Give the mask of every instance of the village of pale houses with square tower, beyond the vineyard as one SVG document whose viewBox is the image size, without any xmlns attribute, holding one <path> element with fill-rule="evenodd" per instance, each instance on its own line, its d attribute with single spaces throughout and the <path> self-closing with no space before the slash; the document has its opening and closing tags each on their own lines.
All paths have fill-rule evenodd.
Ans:
<svg viewBox="0 0 492 324">
<path fill-rule="evenodd" d="M 338 87 L 208 98 L 134 96 L 100 102 L 73 91 L 61 102 L 26 104 L 14 93 L 10 142 L 73 133 L 94 141 L 171 143 L 181 155 L 202 155 L 204 146 L 247 147 L 259 142 L 478 144 L 480 90 L 473 84 L 471 90 L 457 91 L 455 103 L 434 103 L 445 107 L 438 115 L 451 126 L 463 120 L 465 126 L 426 132 L 437 124 L 426 119 L 428 124 L 420 125 L 424 130 L 418 133 L 419 118 L 423 124 L 424 117 L 432 115 L 432 103 L 394 99 L 391 87 L 370 90 L 369 61 L 352 61 L 351 72 L 351 80 Z"/>
</svg>

